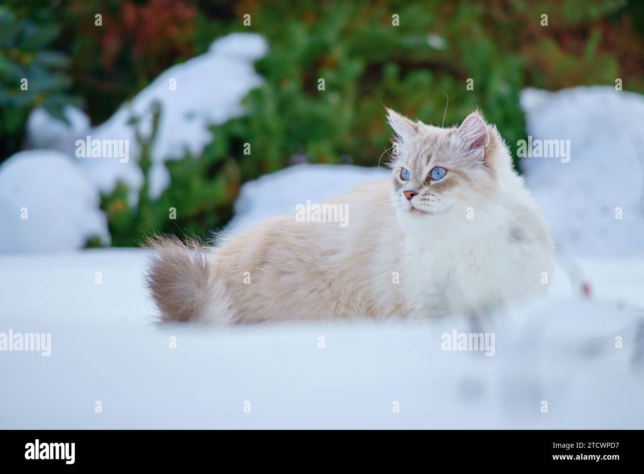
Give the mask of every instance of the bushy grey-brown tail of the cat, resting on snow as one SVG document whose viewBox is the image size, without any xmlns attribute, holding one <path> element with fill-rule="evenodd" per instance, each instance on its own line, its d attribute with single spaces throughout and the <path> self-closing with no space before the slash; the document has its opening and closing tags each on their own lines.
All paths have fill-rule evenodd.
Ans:
<svg viewBox="0 0 644 474">
<path fill-rule="evenodd" d="M 161 321 L 229 324 L 234 321 L 213 250 L 194 239 L 155 236 L 147 246 L 156 252 L 147 263 L 146 284 Z"/>
</svg>

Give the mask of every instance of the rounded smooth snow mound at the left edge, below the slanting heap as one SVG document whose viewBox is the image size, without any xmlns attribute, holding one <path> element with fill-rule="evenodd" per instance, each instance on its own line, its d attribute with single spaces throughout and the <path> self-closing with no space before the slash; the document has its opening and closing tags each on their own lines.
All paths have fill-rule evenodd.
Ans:
<svg viewBox="0 0 644 474">
<path fill-rule="evenodd" d="M 82 248 L 109 242 L 99 192 L 64 153 L 29 150 L 0 165 L 0 253 Z"/>
</svg>

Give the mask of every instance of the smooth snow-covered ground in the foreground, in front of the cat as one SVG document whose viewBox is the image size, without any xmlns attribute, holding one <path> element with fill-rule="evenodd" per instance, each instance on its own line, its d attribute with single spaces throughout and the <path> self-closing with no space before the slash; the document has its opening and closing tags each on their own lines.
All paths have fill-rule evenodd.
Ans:
<svg viewBox="0 0 644 474">
<path fill-rule="evenodd" d="M 145 257 L 0 256 L 0 333 L 51 333 L 52 342 L 48 357 L 0 353 L 0 377 L 12 380 L 0 384 L 0 428 L 644 426 L 644 319 L 630 301 L 544 301 L 476 327 L 156 328 L 140 282 Z M 605 273 L 603 263 L 590 267 Z M 643 261 L 624 265 L 644 279 Z M 494 333 L 494 355 L 442 350 L 453 330 Z"/>
</svg>

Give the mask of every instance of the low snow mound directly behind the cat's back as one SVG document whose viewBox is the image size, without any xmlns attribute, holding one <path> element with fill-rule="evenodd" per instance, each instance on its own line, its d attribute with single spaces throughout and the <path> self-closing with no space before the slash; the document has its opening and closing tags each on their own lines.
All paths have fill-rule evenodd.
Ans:
<svg viewBox="0 0 644 474">
<path fill-rule="evenodd" d="M 327 201 L 360 184 L 388 179 L 389 175 L 384 166 L 296 164 L 243 184 L 230 228 L 239 230 L 268 217 L 293 213 L 295 206 L 307 200 Z"/>
</svg>

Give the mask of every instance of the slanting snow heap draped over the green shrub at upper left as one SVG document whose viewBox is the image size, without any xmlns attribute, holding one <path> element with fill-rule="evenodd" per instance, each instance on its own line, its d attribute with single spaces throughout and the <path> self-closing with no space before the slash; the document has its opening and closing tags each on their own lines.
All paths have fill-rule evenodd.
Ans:
<svg viewBox="0 0 644 474">
<path fill-rule="evenodd" d="M 77 110 L 68 111 L 74 124 L 71 128 L 36 110 L 29 119 L 28 143 L 52 147 L 74 158 L 76 141 L 86 140 L 88 135 L 92 141 L 128 141 L 127 163 L 115 158 L 75 159 L 100 191 L 111 191 L 118 179 L 138 191 L 143 181 L 135 163 L 140 150 L 130 121 L 137 117 L 140 133 L 149 137 L 152 107 L 158 103 L 161 116 L 152 148 L 150 183 L 150 196 L 156 198 L 169 184 L 164 161 L 182 158 L 185 151 L 199 155 L 211 141 L 208 126 L 222 124 L 244 113 L 243 97 L 262 83 L 253 62 L 266 52 L 267 43 L 261 35 L 227 35 L 214 41 L 207 53 L 166 70 L 97 127 L 87 128 L 86 117 L 78 117 Z"/>
</svg>

